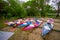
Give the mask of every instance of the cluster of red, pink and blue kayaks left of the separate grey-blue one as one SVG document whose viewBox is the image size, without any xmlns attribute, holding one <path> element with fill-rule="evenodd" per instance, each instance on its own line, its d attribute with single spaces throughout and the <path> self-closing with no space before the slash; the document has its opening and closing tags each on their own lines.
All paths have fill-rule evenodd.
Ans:
<svg viewBox="0 0 60 40">
<path fill-rule="evenodd" d="M 15 21 L 6 22 L 6 25 L 12 26 L 12 27 L 24 27 L 22 30 L 30 30 L 32 28 L 38 27 L 41 24 L 43 24 L 42 19 L 38 20 L 36 18 L 26 18 L 26 19 L 18 19 Z"/>
</svg>

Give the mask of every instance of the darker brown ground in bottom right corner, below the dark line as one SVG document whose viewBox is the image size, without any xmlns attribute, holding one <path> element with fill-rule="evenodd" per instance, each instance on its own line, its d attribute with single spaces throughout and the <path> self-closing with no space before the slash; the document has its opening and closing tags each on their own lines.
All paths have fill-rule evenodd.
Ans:
<svg viewBox="0 0 60 40">
<path fill-rule="evenodd" d="M 60 40 L 60 32 L 52 31 L 45 37 L 45 40 Z"/>
</svg>

